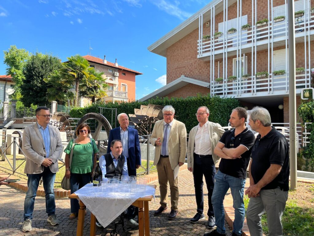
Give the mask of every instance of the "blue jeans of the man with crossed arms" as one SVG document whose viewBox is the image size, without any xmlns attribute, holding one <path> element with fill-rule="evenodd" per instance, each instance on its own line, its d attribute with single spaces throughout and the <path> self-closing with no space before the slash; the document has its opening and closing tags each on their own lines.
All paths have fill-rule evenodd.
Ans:
<svg viewBox="0 0 314 236">
<path fill-rule="evenodd" d="M 226 233 L 224 199 L 230 188 L 233 198 L 233 208 L 235 209 L 235 220 L 232 232 L 241 235 L 245 217 L 243 202 L 245 179 L 240 179 L 226 175 L 218 171 L 215 175 L 215 186 L 212 196 L 212 204 L 215 213 L 215 225 L 218 233 Z"/>
</svg>

